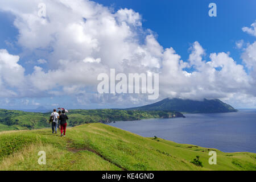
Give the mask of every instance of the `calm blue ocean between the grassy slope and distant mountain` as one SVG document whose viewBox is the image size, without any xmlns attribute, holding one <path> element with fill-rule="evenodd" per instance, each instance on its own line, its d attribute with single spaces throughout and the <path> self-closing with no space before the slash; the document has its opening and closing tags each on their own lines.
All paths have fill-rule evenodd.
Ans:
<svg viewBox="0 0 256 182">
<path fill-rule="evenodd" d="M 184 115 L 186 118 L 118 121 L 108 125 L 142 137 L 156 136 L 223 152 L 256 153 L 256 109 Z"/>
</svg>

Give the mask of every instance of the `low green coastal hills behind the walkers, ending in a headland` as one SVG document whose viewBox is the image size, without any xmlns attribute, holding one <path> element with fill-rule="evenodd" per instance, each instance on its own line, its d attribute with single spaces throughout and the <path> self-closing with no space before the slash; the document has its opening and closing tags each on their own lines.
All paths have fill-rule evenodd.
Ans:
<svg viewBox="0 0 256 182">
<path fill-rule="evenodd" d="M 19 110 L 0 109 L 0 131 L 42 129 L 51 127 L 49 116 L 51 113 L 30 113 Z M 147 118 L 183 117 L 179 112 L 170 111 L 127 111 L 114 109 L 69 110 L 67 114 L 68 126 L 85 123 L 108 123 L 112 121 L 131 121 Z"/>
</svg>

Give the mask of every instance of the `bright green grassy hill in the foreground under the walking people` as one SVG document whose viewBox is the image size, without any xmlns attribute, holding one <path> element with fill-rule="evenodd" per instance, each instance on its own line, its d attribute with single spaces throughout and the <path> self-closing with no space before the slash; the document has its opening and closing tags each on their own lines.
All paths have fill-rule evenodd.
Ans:
<svg viewBox="0 0 256 182">
<path fill-rule="evenodd" d="M 208 151 L 217 152 L 217 165 Z M 38 152 L 46 152 L 46 165 Z M 191 161 L 200 156 L 203 167 Z M 160 138 L 144 138 L 102 123 L 67 130 L 67 137 L 50 129 L 0 133 L 0 170 L 256 170 L 256 154 L 224 153 Z"/>
</svg>

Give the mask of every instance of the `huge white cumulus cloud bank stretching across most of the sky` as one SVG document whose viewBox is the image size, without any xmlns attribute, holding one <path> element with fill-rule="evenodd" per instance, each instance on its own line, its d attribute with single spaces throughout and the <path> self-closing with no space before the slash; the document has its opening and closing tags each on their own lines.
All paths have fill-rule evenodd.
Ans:
<svg viewBox="0 0 256 182">
<path fill-rule="evenodd" d="M 142 94 L 97 93 L 98 74 L 115 68 L 117 73 L 159 73 L 160 98 L 224 98 L 232 102 L 241 94 L 241 100 L 254 99 L 256 78 L 229 53 L 207 56 L 200 43 L 194 42 L 184 61 L 173 47 L 164 49 L 151 31 L 143 29 L 141 15 L 134 10 L 113 12 L 92 1 L 46 0 L 46 17 L 40 17 L 40 2 L 0 2 L 1 10 L 15 15 L 18 44 L 35 55 L 40 49 L 47 60 L 36 55 L 40 65 L 25 74 L 19 56 L 0 50 L 1 97 L 66 95 L 75 96 L 80 105 L 147 102 Z M 255 23 L 243 31 L 255 35 Z M 255 70 L 255 43 L 242 57 L 246 67 Z"/>
</svg>

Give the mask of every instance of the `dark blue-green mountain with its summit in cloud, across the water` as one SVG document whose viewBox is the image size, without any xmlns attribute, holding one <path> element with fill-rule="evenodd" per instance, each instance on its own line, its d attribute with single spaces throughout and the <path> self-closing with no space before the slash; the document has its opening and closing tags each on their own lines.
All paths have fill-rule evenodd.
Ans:
<svg viewBox="0 0 256 182">
<path fill-rule="evenodd" d="M 133 107 L 127 110 L 167 110 L 179 111 L 183 113 L 229 113 L 237 112 L 232 106 L 218 100 L 193 101 L 179 98 L 166 98 L 154 104 L 141 107 Z"/>
</svg>

